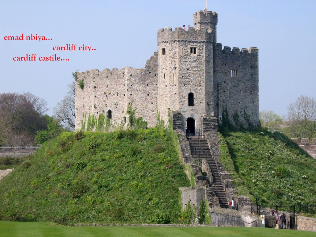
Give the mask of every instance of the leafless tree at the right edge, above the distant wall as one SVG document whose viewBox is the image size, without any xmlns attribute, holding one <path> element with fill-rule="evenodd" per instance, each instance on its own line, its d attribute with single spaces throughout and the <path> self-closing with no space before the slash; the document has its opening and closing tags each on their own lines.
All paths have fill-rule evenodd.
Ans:
<svg viewBox="0 0 316 237">
<path fill-rule="evenodd" d="M 313 97 L 301 95 L 288 106 L 289 130 L 301 140 L 311 139 L 316 133 L 316 101 Z"/>
</svg>

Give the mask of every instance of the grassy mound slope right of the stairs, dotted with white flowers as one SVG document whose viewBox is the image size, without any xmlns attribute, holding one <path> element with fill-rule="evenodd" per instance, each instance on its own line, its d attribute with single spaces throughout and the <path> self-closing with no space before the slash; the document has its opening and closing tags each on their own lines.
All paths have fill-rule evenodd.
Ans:
<svg viewBox="0 0 316 237">
<path fill-rule="evenodd" d="M 230 132 L 220 148 L 240 194 L 258 204 L 316 202 L 316 160 L 282 133 Z"/>
</svg>

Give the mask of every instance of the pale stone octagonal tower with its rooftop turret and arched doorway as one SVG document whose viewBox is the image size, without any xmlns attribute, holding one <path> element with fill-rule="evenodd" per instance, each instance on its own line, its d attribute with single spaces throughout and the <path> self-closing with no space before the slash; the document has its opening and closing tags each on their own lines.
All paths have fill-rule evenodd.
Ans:
<svg viewBox="0 0 316 237">
<path fill-rule="evenodd" d="M 217 14 L 193 14 L 194 27 L 158 31 L 158 107 L 168 121 L 168 110 L 182 114 L 182 129 L 202 130 L 203 117 L 214 114 L 213 46 Z"/>
</svg>

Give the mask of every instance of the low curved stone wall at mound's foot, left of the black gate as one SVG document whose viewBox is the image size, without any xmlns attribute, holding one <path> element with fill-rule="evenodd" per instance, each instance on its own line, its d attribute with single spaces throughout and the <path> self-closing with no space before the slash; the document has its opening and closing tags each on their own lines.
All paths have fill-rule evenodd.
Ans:
<svg viewBox="0 0 316 237">
<path fill-rule="evenodd" d="M 260 217 L 254 217 L 248 212 L 211 208 L 210 216 L 212 225 L 261 227 Z"/>
</svg>

